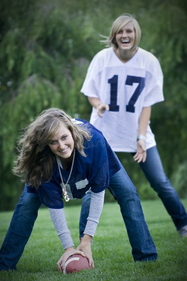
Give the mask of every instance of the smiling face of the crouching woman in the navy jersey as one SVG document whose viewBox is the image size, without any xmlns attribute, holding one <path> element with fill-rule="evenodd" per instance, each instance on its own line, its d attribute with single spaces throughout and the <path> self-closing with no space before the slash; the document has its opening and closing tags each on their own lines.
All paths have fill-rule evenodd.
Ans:
<svg viewBox="0 0 187 281">
<path fill-rule="evenodd" d="M 61 159 L 68 159 L 74 151 L 74 140 L 69 129 L 60 122 L 59 131 L 48 142 L 50 150 Z"/>
</svg>

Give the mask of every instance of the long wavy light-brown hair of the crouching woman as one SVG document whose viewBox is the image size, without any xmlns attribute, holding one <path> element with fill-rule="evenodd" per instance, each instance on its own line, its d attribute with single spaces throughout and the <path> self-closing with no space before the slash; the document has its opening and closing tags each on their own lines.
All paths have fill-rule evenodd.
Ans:
<svg viewBox="0 0 187 281">
<path fill-rule="evenodd" d="M 55 154 L 50 150 L 48 143 L 58 133 L 61 122 L 70 130 L 74 146 L 81 155 L 84 153 L 84 140 L 89 141 L 91 135 L 84 127 L 72 121 L 71 116 L 58 108 L 50 108 L 41 114 L 26 127 L 18 142 L 19 155 L 13 173 L 22 176 L 23 182 L 39 188 L 42 181 L 49 181 L 53 173 Z"/>
</svg>

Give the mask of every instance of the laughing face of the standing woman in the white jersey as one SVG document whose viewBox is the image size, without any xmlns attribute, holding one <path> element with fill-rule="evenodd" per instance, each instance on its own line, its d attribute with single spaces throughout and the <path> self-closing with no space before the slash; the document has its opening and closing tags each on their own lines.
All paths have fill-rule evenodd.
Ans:
<svg viewBox="0 0 187 281">
<path fill-rule="evenodd" d="M 135 30 L 132 22 L 128 22 L 117 32 L 116 42 L 120 51 L 132 49 L 135 42 Z"/>
</svg>

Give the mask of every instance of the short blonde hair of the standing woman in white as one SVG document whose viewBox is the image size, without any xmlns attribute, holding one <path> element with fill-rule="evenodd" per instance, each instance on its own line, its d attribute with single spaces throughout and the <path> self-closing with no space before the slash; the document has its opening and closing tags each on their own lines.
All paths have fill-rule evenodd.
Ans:
<svg viewBox="0 0 187 281">
<path fill-rule="evenodd" d="M 101 40 L 100 42 L 105 43 L 106 47 L 115 47 L 118 48 L 117 42 L 116 42 L 116 34 L 126 25 L 128 22 L 132 22 L 134 31 L 135 31 L 135 41 L 132 46 L 132 50 L 134 50 L 140 43 L 141 39 L 141 29 L 137 22 L 137 20 L 132 17 L 130 14 L 122 14 L 121 16 L 117 17 L 117 19 L 113 22 L 113 25 L 110 30 L 110 36 L 105 37 L 105 40 Z"/>
</svg>

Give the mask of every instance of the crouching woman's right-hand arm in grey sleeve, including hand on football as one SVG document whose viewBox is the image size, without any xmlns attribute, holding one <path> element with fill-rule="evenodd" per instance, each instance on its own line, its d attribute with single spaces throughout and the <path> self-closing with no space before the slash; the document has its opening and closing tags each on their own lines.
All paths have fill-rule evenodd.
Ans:
<svg viewBox="0 0 187 281">
<path fill-rule="evenodd" d="M 84 236 L 81 240 L 81 243 L 77 247 L 78 250 L 83 251 L 86 257 L 89 259 L 89 265 L 94 267 L 93 259 L 92 259 L 92 251 L 91 251 L 91 238 L 95 234 L 96 227 L 99 222 L 99 218 L 103 209 L 104 203 L 104 193 L 105 190 L 94 193 L 91 191 L 91 201 L 90 201 L 90 209 L 89 216 L 87 219 L 87 224 L 84 230 Z"/>
</svg>

